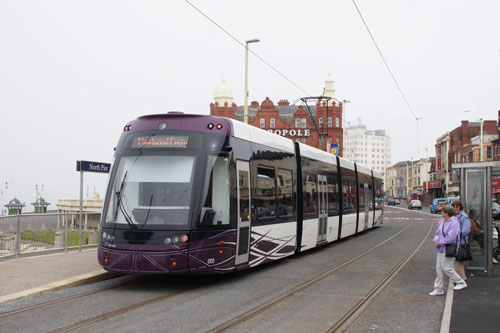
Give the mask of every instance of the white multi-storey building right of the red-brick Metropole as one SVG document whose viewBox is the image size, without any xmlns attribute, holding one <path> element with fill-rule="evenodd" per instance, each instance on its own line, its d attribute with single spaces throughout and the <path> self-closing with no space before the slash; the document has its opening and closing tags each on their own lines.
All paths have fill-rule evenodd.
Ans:
<svg viewBox="0 0 500 333">
<path fill-rule="evenodd" d="M 365 125 L 344 129 L 343 157 L 377 170 L 386 178 L 386 169 L 391 166 L 391 138 L 385 130 L 367 130 Z"/>
</svg>

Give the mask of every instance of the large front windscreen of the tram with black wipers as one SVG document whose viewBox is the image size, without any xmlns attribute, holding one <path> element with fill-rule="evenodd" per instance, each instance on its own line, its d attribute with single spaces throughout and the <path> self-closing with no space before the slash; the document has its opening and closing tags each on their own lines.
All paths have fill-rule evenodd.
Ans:
<svg viewBox="0 0 500 333">
<path fill-rule="evenodd" d="M 187 225 L 195 160 L 186 155 L 122 157 L 105 223 L 132 229 Z"/>
</svg>

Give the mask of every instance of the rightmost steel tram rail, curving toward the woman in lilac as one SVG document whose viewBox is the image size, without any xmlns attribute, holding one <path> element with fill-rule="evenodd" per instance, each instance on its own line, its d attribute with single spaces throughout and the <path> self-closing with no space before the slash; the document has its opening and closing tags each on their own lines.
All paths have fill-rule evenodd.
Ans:
<svg viewBox="0 0 500 333">
<path fill-rule="evenodd" d="M 347 326 L 348 321 L 350 319 L 353 319 L 357 315 L 361 314 L 361 312 L 365 309 L 368 304 L 375 299 L 375 297 L 378 295 L 380 291 L 382 291 L 388 284 L 389 282 L 392 281 L 392 279 L 396 276 L 396 274 L 403 269 L 403 267 L 410 261 L 410 259 L 420 250 L 422 245 L 424 245 L 424 242 L 427 240 L 429 237 L 431 231 L 433 230 L 434 225 L 430 223 L 429 225 L 429 230 L 427 231 L 427 234 L 425 237 L 422 239 L 420 244 L 417 245 L 417 247 L 410 252 L 386 277 L 380 281 L 372 290 L 366 294 L 365 297 L 363 297 L 356 305 L 354 305 L 349 312 L 347 312 L 335 325 L 333 325 L 327 332 L 337 332 L 339 329 L 343 330 L 343 326 Z"/>
</svg>

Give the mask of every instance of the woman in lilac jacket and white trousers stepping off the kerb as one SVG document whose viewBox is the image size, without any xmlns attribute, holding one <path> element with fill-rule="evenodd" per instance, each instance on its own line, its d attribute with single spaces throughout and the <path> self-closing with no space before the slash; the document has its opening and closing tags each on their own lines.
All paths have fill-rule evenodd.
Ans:
<svg viewBox="0 0 500 333">
<path fill-rule="evenodd" d="M 453 217 L 454 210 L 450 206 L 444 207 L 441 213 L 443 217 L 439 221 L 436 235 L 434 236 L 434 245 L 436 246 L 436 280 L 434 281 L 434 290 L 429 293 L 431 296 L 444 294 L 443 273 L 450 278 L 456 285 L 454 290 L 461 290 L 467 287 L 467 283 L 458 276 L 453 268 L 454 257 L 446 257 L 446 244 L 457 243 L 460 235 L 460 226 L 456 217 Z"/>
</svg>

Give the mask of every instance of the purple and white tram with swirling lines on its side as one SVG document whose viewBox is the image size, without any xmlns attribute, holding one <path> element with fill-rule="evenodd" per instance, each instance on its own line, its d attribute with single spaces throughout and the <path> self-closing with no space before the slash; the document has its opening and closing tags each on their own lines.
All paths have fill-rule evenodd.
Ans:
<svg viewBox="0 0 500 333">
<path fill-rule="evenodd" d="M 381 176 L 242 122 L 140 117 L 115 150 L 99 263 L 123 273 L 216 274 L 382 223 Z"/>
</svg>

